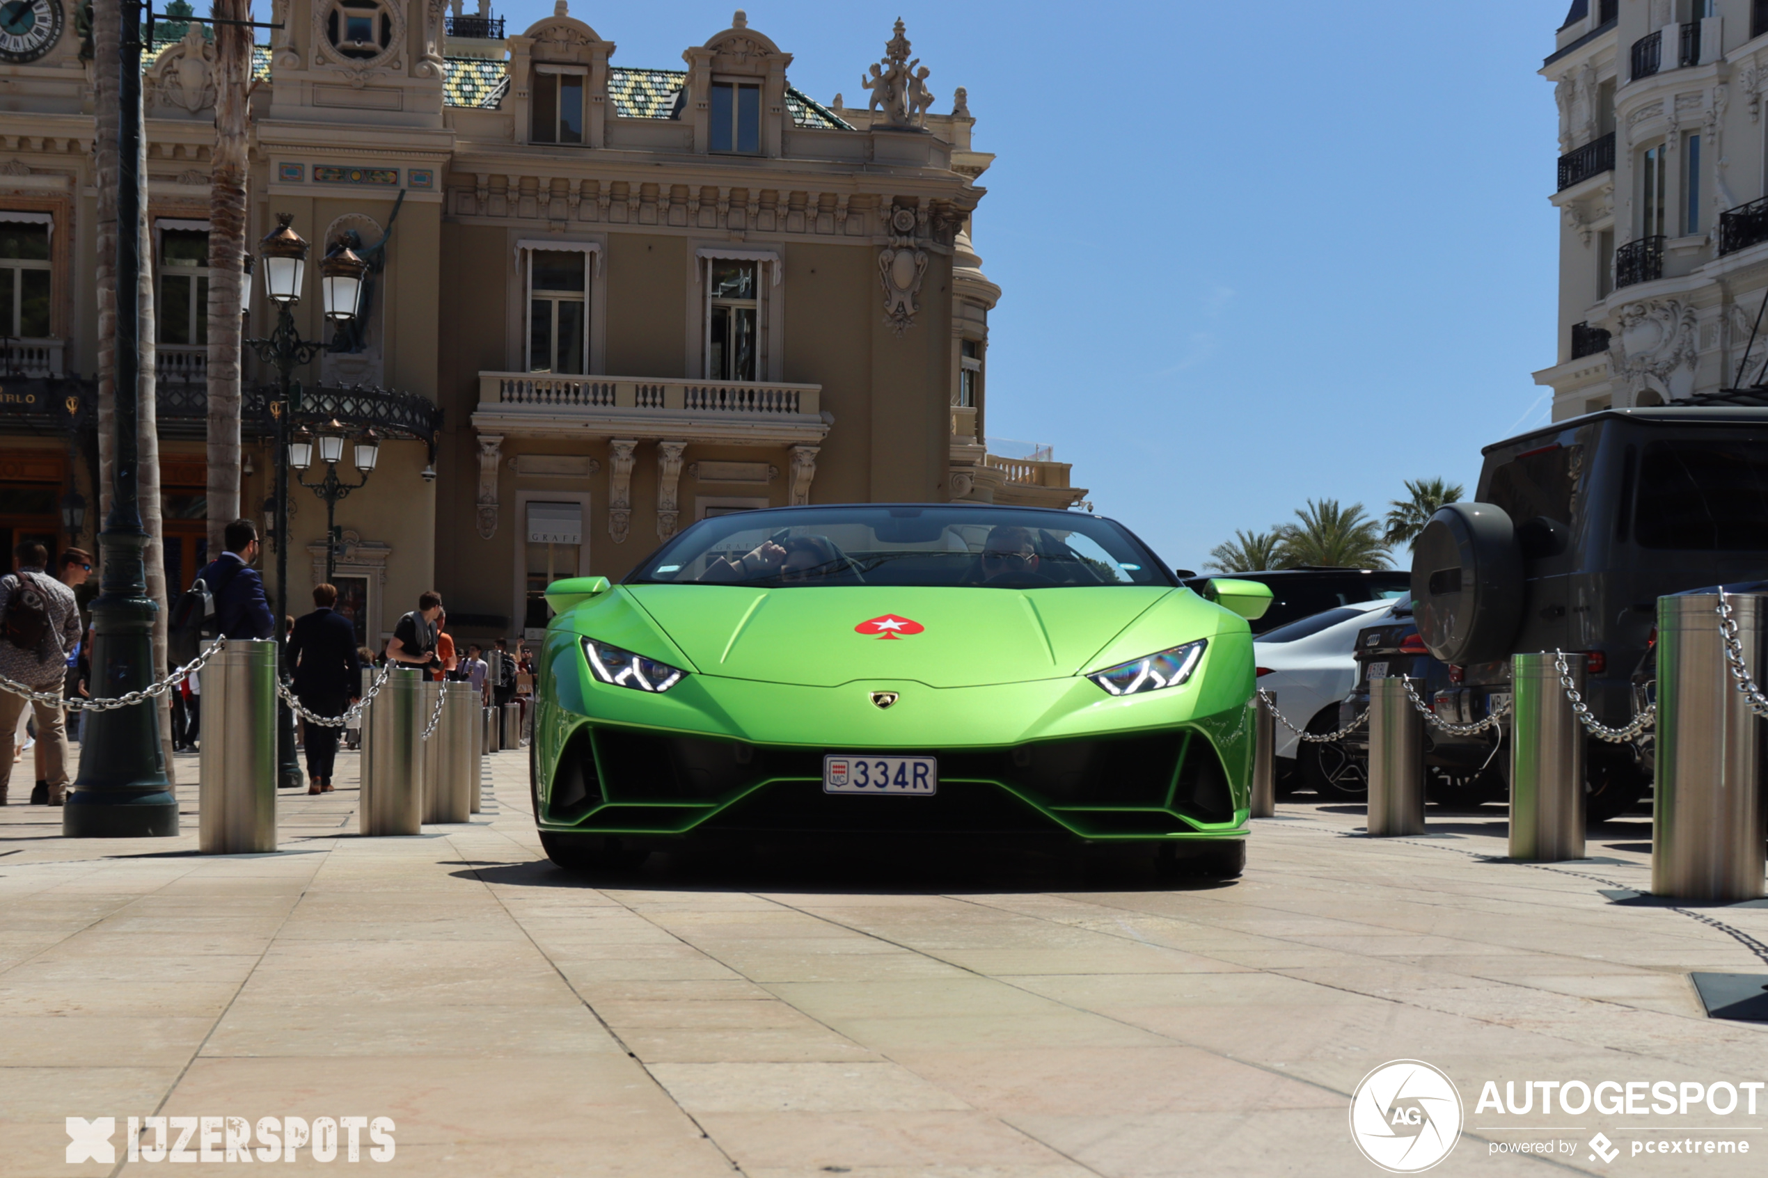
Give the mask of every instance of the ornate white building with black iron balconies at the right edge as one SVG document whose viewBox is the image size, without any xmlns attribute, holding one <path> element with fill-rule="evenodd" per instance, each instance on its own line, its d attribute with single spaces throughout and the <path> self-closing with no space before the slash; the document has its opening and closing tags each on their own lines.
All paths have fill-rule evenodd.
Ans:
<svg viewBox="0 0 1768 1178">
<path fill-rule="evenodd" d="M 1554 419 L 1759 385 L 1768 4 L 1574 0 L 1540 72 L 1559 108 L 1559 348 L 1535 373 Z"/>
</svg>

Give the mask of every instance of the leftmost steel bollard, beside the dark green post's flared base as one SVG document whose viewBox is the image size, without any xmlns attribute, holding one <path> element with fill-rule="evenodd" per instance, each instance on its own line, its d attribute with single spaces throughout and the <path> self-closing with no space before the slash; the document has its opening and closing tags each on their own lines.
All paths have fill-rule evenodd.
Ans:
<svg viewBox="0 0 1768 1178">
<path fill-rule="evenodd" d="M 276 643 L 230 639 L 203 668 L 196 848 L 276 850 Z"/>
</svg>

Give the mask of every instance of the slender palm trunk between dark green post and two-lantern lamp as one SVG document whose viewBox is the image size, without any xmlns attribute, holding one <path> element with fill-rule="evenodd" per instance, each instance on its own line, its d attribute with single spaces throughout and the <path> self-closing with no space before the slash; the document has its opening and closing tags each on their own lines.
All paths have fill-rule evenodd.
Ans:
<svg viewBox="0 0 1768 1178">
<path fill-rule="evenodd" d="M 249 21 L 249 0 L 214 0 L 221 19 Z M 251 30 L 216 26 L 216 150 L 209 166 L 209 555 L 239 519 L 240 274 L 246 253 L 246 125 Z"/>
</svg>

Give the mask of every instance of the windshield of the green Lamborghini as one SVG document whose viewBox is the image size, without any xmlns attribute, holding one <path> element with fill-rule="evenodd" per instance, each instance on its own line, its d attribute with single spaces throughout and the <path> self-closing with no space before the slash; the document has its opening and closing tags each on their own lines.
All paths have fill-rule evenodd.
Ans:
<svg viewBox="0 0 1768 1178">
<path fill-rule="evenodd" d="M 987 505 L 794 507 L 702 519 L 626 578 L 636 585 L 1174 585 L 1110 519 Z"/>
</svg>

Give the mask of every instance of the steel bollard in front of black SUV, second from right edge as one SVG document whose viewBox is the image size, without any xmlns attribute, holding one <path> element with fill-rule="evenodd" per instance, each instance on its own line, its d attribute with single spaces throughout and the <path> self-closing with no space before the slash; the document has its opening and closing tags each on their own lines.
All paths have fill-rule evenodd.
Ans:
<svg viewBox="0 0 1768 1178">
<path fill-rule="evenodd" d="M 1584 655 L 1565 666 L 1584 691 Z M 1515 655 L 1510 678 L 1510 858 L 1584 858 L 1584 728 L 1554 653 Z"/>
</svg>

